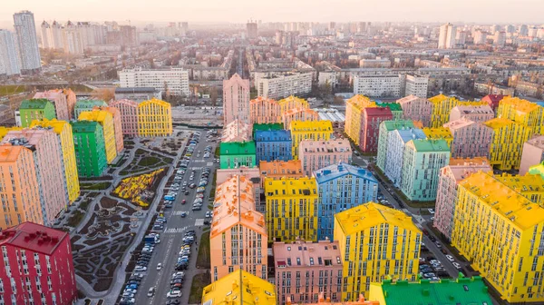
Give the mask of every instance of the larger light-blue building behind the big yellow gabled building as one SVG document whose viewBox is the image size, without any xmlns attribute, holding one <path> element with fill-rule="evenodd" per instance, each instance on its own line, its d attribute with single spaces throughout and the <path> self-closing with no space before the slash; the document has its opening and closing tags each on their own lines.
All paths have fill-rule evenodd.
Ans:
<svg viewBox="0 0 544 305">
<path fill-rule="evenodd" d="M 317 202 L 317 241 L 333 240 L 335 213 L 375 202 L 378 181 L 372 172 L 344 162 L 314 171 Z"/>
</svg>

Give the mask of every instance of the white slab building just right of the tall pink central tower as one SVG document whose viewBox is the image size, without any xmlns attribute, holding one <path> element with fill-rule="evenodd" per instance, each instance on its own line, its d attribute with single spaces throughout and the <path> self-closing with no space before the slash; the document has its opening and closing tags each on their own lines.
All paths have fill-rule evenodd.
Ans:
<svg viewBox="0 0 544 305">
<path fill-rule="evenodd" d="M 257 95 L 281 99 L 290 95 L 304 95 L 312 91 L 312 73 L 287 73 L 261 77 L 256 81 Z"/>
</svg>

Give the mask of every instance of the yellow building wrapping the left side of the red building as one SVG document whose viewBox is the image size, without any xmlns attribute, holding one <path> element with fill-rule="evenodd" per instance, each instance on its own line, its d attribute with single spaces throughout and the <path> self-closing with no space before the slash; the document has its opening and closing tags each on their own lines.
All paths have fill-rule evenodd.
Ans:
<svg viewBox="0 0 544 305">
<path fill-rule="evenodd" d="M 367 107 L 374 108 L 377 105 L 368 97 L 361 94 L 357 94 L 345 101 L 344 132 L 357 146 L 359 146 L 361 139 L 361 115 L 363 109 Z"/>
</svg>

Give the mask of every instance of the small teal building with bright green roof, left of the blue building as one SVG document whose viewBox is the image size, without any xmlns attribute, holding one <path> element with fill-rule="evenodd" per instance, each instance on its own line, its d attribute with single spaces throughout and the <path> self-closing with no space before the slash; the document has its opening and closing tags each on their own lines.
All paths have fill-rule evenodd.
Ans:
<svg viewBox="0 0 544 305">
<path fill-rule="evenodd" d="M 228 142 L 219 145 L 219 164 L 221 169 L 233 169 L 240 166 L 255 167 L 255 142 Z"/>
</svg>

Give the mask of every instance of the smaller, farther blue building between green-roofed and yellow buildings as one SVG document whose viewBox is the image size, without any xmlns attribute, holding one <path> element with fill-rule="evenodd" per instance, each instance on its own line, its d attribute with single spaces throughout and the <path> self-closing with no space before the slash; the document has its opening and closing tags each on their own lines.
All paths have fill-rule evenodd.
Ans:
<svg viewBox="0 0 544 305">
<path fill-rule="evenodd" d="M 259 161 L 289 161 L 293 159 L 291 131 L 267 130 L 255 133 L 257 165 Z"/>
</svg>

